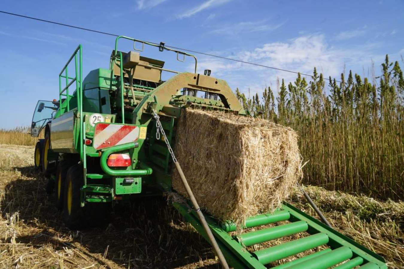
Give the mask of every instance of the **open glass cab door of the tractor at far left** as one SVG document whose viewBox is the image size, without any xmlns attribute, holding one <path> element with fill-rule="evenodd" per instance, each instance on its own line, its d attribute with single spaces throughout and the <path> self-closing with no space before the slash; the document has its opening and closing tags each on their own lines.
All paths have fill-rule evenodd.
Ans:
<svg viewBox="0 0 404 269">
<path fill-rule="evenodd" d="M 31 136 L 38 137 L 41 130 L 46 126 L 57 111 L 57 105 L 52 101 L 39 100 L 36 104 L 34 116 L 31 123 Z"/>
</svg>

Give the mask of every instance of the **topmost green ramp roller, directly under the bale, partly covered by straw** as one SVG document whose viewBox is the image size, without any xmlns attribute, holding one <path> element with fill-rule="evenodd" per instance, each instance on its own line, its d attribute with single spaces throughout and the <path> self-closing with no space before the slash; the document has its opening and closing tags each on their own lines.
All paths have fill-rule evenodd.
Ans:
<svg viewBox="0 0 404 269">
<path fill-rule="evenodd" d="M 269 223 L 275 223 L 278 221 L 286 221 L 290 218 L 288 211 L 281 210 L 275 211 L 273 214 L 261 214 L 254 217 L 250 217 L 246 220 L 245 228 L 257 227 L 260 225 L 265 225 Z M 236 224 L 232 221 L 225 221 L 222 223 L 222 229 L 231 232 L 236 231 Z"/>
</svg>

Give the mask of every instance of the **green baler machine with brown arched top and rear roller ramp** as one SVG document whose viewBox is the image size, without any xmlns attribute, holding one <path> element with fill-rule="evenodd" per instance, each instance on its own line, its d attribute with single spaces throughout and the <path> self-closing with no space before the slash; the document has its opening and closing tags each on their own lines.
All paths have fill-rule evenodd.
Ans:
<svg viewBox="0 0 404 269">
<path fill-rule="evenodd" d="M 134 42 L 134 50 L 139 50 L 138 43 L 141 51 L 145 44 L 173 51 L 179 61 L 192 57 L 195 72 L 179 73 L 138 52 L 118 51 L 121 39 Z M 38 101 L 31 129 L 36 137 L 44 130 L 44 139 L 36 144 L 35 166 L 53 183 L 55 204 L 63 211 L 67 227 L 80 229 L 99 223 L 117 201 L 172 191 L 173 165 L 166 142 L 174 145 L 183 108 L 248 115 L 226 81 L 210 77 L 210 70 L 203 75 L 196 70 L 197 59 L 191 54 L 164 43 L 119 36 L 109 69 L 95 69 L 83 79 L 82 46 L 76 48 L 59 74 L 59 100 Z M 175 75 L 162 81 L 163 71 Z M 166 136 L 159 135 L 154 113 Z M 208 239 L 195 209 L 188 203 L 173 206 Z M 203 214 L 227 263 L 234 268 L 266 268 L 319 246 L 324 247 L 276 268 L 387 268 L 381 256 L 287 203 L 272 214 L 250 217 L 246 228 L 288 223 L 241 236 L 231 236 L 236 229 L 231 221 L 219 223 Z M 247 249 L 299 233 L 306 236 L 255 252 Z"/>
</svg>

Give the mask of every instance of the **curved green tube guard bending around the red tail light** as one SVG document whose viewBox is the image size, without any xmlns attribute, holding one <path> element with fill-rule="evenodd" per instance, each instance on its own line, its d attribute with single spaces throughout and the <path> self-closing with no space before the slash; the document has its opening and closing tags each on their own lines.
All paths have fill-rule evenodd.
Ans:
<svg viewBox="0 0 404 269">
<path fill-rule="evenodd" d="M 112 170 L 111 168 L 108 167 L 107 158 L 109 155 L 111 155 L 114 152 L 129 150 L 129 149 L 135 148 L 135 147 L 136 147 L 136 143 L 131 142 L 128 144 L 114 146 L 112 148 L 108 148 L 108 149 L 104 150 L 101 155 L 101 158 L 100 158 L 101 169 L 107 175 L 112 175 L 114 177 L 151 175 L 151 173 L 153 173 L 153 170 L 150 167 L 143 165 L 143 163 L 140 164 L 143 169 L 138 169 L 138 170 Z"/>
</svg>

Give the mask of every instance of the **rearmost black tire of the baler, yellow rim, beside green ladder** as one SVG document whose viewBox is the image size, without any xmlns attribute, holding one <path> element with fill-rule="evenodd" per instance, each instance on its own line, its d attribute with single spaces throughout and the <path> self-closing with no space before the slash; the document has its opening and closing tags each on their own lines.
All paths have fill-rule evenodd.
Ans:
<svg viewBox="0 0 404 269">
<path fill-rule="evenodd" d="M 111 203 L 86 202 L 80 205 L 83 186 L 83 167 L 74 165 L 67 171 L 65 181 L 65 200 L 63 203 L 63 221 L 72 230 L 81 230 L 105 223 L 112 209 Z"/>
</svg>

